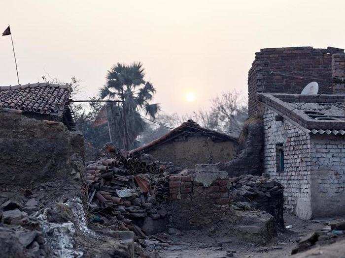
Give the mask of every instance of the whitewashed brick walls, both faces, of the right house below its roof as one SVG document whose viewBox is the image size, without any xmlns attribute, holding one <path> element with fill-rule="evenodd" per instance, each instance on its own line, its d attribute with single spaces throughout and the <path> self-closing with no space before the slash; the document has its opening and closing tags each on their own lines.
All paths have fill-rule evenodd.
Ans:
<svg viewBox="0 0 345 258">
<path fill-rule="evenodd" d="M 264 171 L 284 186 L 284 207 L 304 219 L 345 214 L 345 136 L 306 133 L 264 107 Z M 283 143 L 284 171 L 276 144 Z"/>
</svg>

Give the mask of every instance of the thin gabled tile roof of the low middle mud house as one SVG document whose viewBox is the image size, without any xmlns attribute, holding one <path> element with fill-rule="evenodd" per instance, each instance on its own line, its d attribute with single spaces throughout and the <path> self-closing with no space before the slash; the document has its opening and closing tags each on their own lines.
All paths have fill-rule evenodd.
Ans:
<svg viewBox="0 0 345 258">
<path fill-rule="evenodd" d="M 179 135 L 183 135 L 183 134 L 192 135 L 192 136 L 198 136 L 198 135 L 209 136 L 209 137 L 214 136 L 216 139 L 221 140 L 221 141 L 232 141 L 236 144 L 238 143 L 237 139 L 234 137 L 203 128 L 196 122 L 192 120 L 188 120 L 187 122 L 182 123 L 180 126 L 176 127 L 175 129 L 161 136 L 160 138 L 153 140 L 152 142 L 147 143 L 145 145 L 142 145 L 136 149 L 131 150 L 130 154 L 144 152 L 160 144 L 167 143 L 173 140 L 174 138 L 178 137 Z"/>
</svg>

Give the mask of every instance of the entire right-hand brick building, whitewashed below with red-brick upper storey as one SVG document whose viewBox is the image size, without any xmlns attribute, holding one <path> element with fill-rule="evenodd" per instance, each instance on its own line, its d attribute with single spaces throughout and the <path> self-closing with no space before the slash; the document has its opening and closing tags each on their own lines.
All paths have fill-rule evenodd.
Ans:
<svg viewBox="0 0 345 258">
<path fill-rule="evenodd" d="M 264 126 L 264 172 L 284 186 L 285 208 L 310 219 L 345 214 L 343 49 L 262 49 L 249 70 L 250 115 Z M 301 95 L 316 81 L 321 95 Z"/>
</svg>

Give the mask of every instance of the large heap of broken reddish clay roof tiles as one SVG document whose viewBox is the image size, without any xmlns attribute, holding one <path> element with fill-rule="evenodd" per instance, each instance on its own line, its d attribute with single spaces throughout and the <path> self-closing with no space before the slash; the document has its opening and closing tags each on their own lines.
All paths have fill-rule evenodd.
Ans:
<svg viewBox="0 0 345 258">
<path fill-rule="evenodd" d="M 138 227 L 143 219 L 167 215 L 159 211 L 160 203 L 169 200 L 169 176 L 159 162 L 119 155 L 116 159 L 86 162 L 85 169 L 92 223 L 113 230 L 133 230 L 138 238 L 144 238 Z"/>
</svg>

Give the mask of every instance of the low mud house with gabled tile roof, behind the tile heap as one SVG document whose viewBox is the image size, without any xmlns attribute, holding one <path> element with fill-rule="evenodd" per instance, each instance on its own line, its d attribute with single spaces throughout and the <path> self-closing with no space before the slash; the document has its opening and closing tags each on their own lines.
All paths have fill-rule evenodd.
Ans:
<svg viewBox="0 0 345 258">
<path fill-rule="evenodd" d="M 160 161 L 194 169 L 195 164 L 207 163 L 210 152 L 214 163 L 232 159 L 237 147 L 235 138 L 202 128 L 189 120 L 168 134 L 132 150 L 131 153 L 151 154 Z"/>
</svg>

